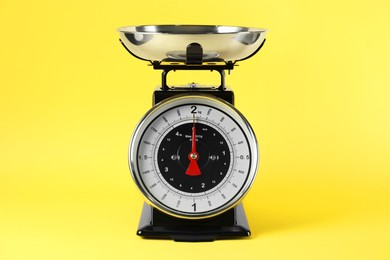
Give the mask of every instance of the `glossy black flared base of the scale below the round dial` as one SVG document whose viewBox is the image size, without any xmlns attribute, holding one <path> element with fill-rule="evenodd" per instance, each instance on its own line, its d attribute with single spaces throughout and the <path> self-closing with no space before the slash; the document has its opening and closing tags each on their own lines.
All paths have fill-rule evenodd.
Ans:
<svg viewBox="0 0 390 260">
<path fill-rule="evenodd" d="M 144 238 L 205 242 L 248 237 L 250 230 L 242 204 L 216 217 L 188 220 L 169 216 L 144 203 L 137 235 Z"/>
</svg>

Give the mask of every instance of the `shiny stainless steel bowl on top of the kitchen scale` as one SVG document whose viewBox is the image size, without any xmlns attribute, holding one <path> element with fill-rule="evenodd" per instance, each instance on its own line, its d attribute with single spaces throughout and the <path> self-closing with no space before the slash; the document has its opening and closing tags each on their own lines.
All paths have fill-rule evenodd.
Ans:
<svg viewBox="0 0 390 260">
<path fill-rule="evenodd" d="M 150 61 L 183 61 L 190 43 L 203 48 L 203 60 L 238 61 L 254 54 L 266 29 L 219 25 L 143 25 L 118 29 L 120 39 L 135 56 Z"/>
</svg>

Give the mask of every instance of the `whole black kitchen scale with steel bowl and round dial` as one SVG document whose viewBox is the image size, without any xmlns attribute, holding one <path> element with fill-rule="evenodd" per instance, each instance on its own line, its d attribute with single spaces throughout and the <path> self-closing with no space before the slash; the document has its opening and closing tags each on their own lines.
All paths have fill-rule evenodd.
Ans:
<svg viewBox="0 0 390 260">
<path fill-rule="evenodd" d="M 132 177 L 145 196 L 137 235 L 175 241 L 250 236 L 241 203 L 259 165 L 255 134 L 234 107 L 225 71 L 255 55 L 265 29 L 148 25 L 118 29 L 134 57 L 162 71 L 153 107 L 129 147 Z M 170 71 L 209 70 L 219 86 L 169 86 Z"/>
</svg>

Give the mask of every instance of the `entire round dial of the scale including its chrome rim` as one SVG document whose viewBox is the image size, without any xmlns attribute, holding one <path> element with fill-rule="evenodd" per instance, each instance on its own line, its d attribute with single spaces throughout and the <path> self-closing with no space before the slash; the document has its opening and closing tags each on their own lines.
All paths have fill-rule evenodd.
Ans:
<svg viewBox="0 0 390 260">
<path fill-rule="evenodd" d="M 207 218 L 237 205 L 258 166 L 255 135 L 227 102 L 206 95 L 167 99 L 138 124 L 132 176 L 150 204 L 181 218 Z"/>
</svg>

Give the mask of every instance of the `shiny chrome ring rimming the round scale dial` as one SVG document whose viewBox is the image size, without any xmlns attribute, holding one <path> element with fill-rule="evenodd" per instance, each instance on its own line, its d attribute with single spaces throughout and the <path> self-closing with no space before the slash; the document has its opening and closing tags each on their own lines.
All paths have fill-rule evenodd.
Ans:
<svg viewBox="0 0 390 260">
<path fill-rule="evenodd" d="M 138 144 L 141 141 L 143 133 L 146 131 L 150 123 L 155 120 L 159 115 L 161 115 L 164 111 L 167 111 L 173 107 L 185 105 L 185 104 L 191 104 L 191 103 L 197 103 L 202 105 L 208 105 L 215 107 L 217 109 L 220 109 L 224 111 L 226 114 L 231 116 L 236 123 L 241 127 L 243 130 L 249 144 L 249 149 L 251 150 L 251 166 L 248 173 L 248 178 L 244 185 L 241 188 L 241 191 L 238 192 L 229 202 L 227 202 L 222 207 L 216 208 L 214 210 L 211 210 L 205 213 L 185 213 L 182 211 L 175 211 L 169 207 L 166 207 L 161 201 L 155 199 L 151 193 L 149 192 L 148 188 L 144 186 L 143 182 L 141 181 L 142 177 L 140 172 L 137 169 L 137 150 L 138 150 Z M 185 219 L 202 219 L 202 218 L 209 218 L 216 215 L 219 215 L 234 206 L 238 205 L 243 197 L 247 194 L 249 188 L 252 186 L 253 181 L 256 176 L 257 168 L 259 165 L 259 149 L 257 145 L 257 140 L 255 137 L 255 134 L 253 132 L 252 127 L 248 123 L 248 121 L 245 119 L 245 117 L 231 104 L 227 103 L 224 100 L 221 100 L 219 98 L 213 97 L 211 95 L 180 95 L 175 96 L 169 99 L 166 99 L 159 104 L 152 107 L 145 116 L 141 119 L 141 121 L 138 123 L 129 145 L 129 167 L 131 171 L 131 175 L 138 186 L 139 190 L 144 195 L 145 199 L 147 200 L 147 203 L 152 205 L 153 207 L 171 215 L 174 217 L 179 218 L 185 218 Z"/>
</svg>

